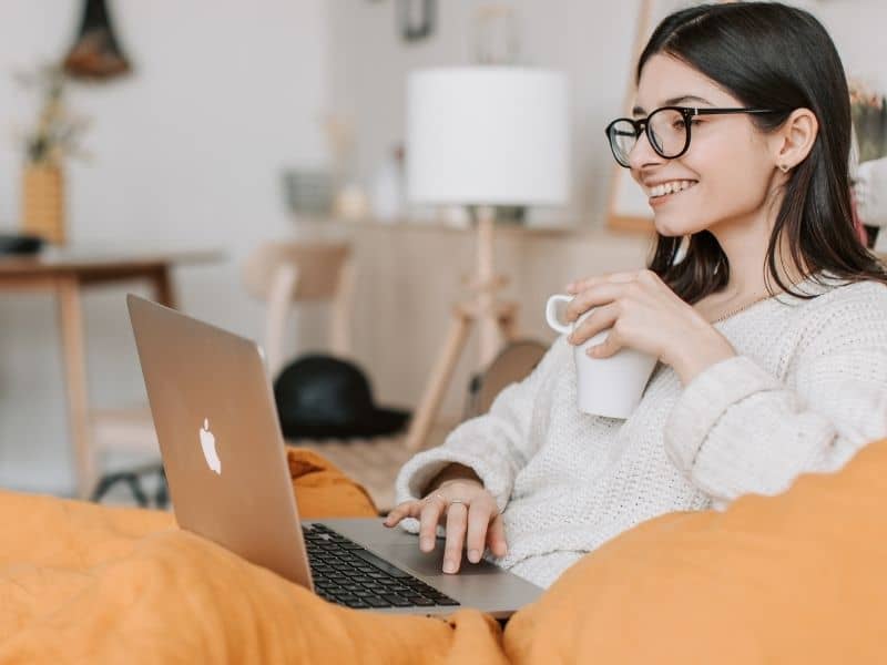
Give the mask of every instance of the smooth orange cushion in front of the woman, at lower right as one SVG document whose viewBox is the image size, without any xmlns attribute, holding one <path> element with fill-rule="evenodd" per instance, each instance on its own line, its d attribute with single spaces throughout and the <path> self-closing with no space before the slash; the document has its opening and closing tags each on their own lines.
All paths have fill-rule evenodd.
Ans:
<svg viewBox="0 0 887 665">
<path fill-rule="evenodd" d="M 887 662 L 887 440 L 723 513 L 641 524 L 509 622 L 514 663 Z"/>
</svg>

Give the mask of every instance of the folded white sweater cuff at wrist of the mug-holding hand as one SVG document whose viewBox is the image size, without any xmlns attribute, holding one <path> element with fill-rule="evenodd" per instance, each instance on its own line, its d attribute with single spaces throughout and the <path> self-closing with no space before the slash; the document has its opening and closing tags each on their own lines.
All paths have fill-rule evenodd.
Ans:
<svg viewBox="0 0 887 665">
<path fill-rule="evenodd" d="M 733 405 L 782 385 L 746 356 L 701 371 L 684 388 L 665 423 L 665 446 L 679 469 L 690 473 L 712 428 Z"/>
</svg>

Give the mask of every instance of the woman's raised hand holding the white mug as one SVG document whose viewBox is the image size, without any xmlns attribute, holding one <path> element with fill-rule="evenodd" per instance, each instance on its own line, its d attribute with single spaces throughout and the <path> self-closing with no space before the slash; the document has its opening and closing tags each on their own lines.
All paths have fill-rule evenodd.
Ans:
<svg viewBox="0 0 887 665">
<path fill-rule="evenodd" d="M 588 349 L 592 358 L 609 358 L 630 347 L 670 365 L 686 386 L 706 367 L 736 355 L 730 341 L 652 270 L 589 277 L 568 285 L 567 293 L 575 296 L 567 307 L 568 321 L 597 307 L 570 335 L 570 344 L 583 344 L 611 328 L 602 344 Z"/>
</svg>

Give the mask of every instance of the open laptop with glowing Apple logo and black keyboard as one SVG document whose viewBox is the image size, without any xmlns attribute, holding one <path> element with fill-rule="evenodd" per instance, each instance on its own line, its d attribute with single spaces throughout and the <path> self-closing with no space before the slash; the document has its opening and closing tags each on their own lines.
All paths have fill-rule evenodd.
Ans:
<svg viewBox="0 0 887 665">
<path fill-rule="evenodd" d="M 299 521 L 262 349 L 144 298 L 126 303 L 182 529 L 360 610 L 506 618 L 541 589 L 462 555 L 458 574 L 381 518 Z"/>
</svg>

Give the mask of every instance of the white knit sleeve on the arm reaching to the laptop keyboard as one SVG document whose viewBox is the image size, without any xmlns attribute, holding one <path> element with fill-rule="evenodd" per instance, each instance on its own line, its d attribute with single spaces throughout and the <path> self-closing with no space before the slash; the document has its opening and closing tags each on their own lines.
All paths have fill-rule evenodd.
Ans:
<svg viewBox="0 0 887 665">
<path fill-rule="evenodd" d="M 441 446 L 419 452 L 404 464 L 396 481 L 397 502 L 420 499 L 435 475 L 448 464 L 459 463 L 478 474 L 503 511 L 514 478 L 541 442 L 530 431 L 537 397 L 552 369 L 569 360 L 564 356 L 570 348 L 564 337 L 558 339 L 529 377 L 499 393 L 488 413 L 465 421 Z M 410 530 L 410 524 L 405 526 Z"/>
</svg>

